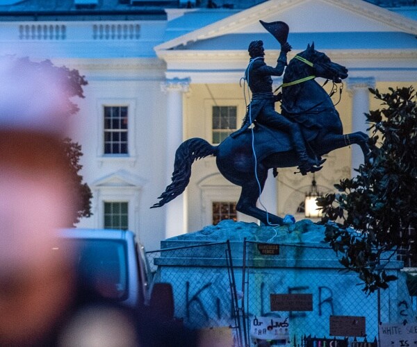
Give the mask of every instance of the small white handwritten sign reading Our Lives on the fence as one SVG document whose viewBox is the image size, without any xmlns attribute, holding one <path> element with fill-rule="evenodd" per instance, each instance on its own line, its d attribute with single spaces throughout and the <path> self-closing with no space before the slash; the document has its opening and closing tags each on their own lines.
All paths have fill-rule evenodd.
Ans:
<svg viewBox="0 0 417 347">
<path fill-rule="evenodd" d="M 288 316 L 284 318 L 254 316 L 250 320 L 250 336 L 252 339 L 285 340 L 290 339 L 290 323 Z"/>
</svg>

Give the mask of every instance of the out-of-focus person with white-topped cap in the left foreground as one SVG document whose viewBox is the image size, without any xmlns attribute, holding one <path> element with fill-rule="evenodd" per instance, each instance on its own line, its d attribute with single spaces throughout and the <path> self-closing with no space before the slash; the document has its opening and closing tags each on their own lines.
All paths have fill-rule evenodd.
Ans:
<svg viewBox="0 0 417 347">
<path fill-rule="evenodd" d="M 70 98 L 85 84 L 49 61 L 0 57 L 0 346 L 138 346 L 119 307 L 72 330 L 89 303 L 71 253 L 54 252 L 56 230 L 72 226 L 77 209 L 63 137 L 78 110 Z"/>
</svg>

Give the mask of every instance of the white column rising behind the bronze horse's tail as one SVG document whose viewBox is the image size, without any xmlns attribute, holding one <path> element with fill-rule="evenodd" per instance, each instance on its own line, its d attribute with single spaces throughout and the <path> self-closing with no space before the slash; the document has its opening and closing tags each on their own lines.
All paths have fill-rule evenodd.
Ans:
<svg viewBox="0 0 417 347">
<path fill-rule="evenodd" d="M 175 151 L 183 142 L 183 93 L 188 92 L 188 78 L 172 78 L 161 83 L 167 94 L 166 173 L 167 185 L 174 171 Z M 187 208 L 185 192 L 165 206 L 165 237 L 174 237 L 187 232 Z"/>
</svg>

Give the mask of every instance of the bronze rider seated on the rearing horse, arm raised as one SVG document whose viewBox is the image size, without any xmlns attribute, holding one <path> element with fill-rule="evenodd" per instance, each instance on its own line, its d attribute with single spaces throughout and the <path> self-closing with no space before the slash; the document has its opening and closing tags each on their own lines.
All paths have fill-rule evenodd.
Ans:
<svg viewBox="0 0 417 347">
<path fill-rule="evenodd" d="M 285 28 L 285 27 L 284 27 Z M 288 31 L 286 32 L 288 35 Z M 284 35 L 284 36 L 286 36 Z M 312 155 L 308 155 L 304 138 L 300 130 L 300 124 L 291 121 L 275 111 L 275 101 L 279 101 L 277 96 L 272 93 L 271 76 L 281 76 L 287 65 L 287 53 L 291 51 L 291 46 L 286 42 L 281 44 L 281 53 L 277 60 L 276 67 L 265 64 L 263 57 L 265 50 L 262 41 L 252 41 L 249 45 L 250 63 L 245 71 L 245 81 L 252 92 L 252 101 L 247 108 L 242 127 L 231 136 L 236 137 L 244 130 L 249 128 L 252 122 L 256 121 L 265 126 L 284 130 L 291 138 L 291 144 L 297 153 L 300 164 L 298 165 L 301 174 L 320 170 L 324 160 L 318 160 Z"/>
</svg>

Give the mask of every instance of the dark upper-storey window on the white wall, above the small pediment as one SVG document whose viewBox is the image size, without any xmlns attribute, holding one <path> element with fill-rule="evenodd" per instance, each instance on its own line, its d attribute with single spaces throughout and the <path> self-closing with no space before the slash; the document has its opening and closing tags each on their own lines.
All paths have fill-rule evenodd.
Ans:
<svg viewBox="0 0 417 347">
<path fill-rule="evenodd" d="M 104 154 L 128 154 L 127 106 L 104 106 Z"/>
</svg>

